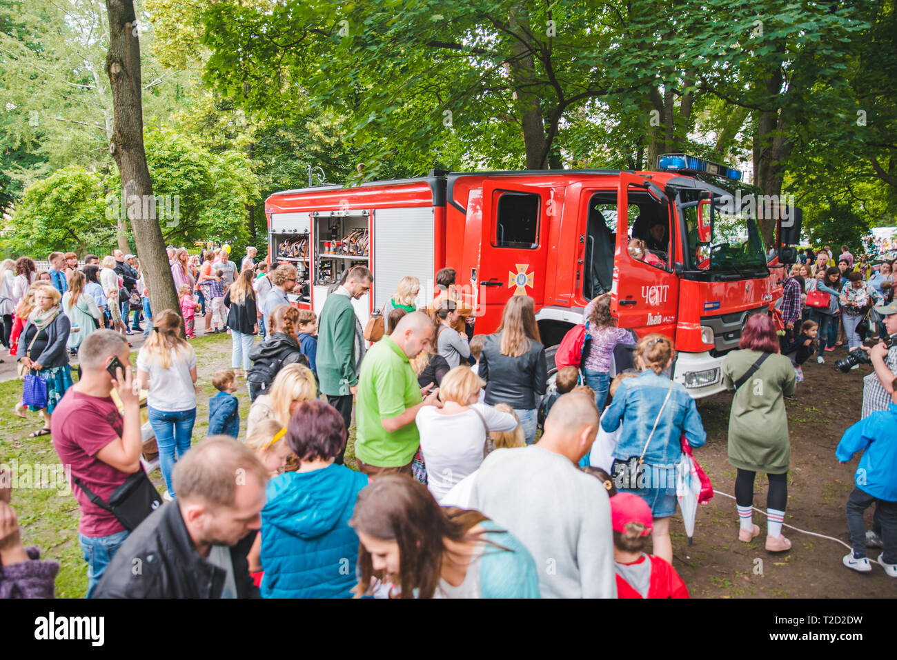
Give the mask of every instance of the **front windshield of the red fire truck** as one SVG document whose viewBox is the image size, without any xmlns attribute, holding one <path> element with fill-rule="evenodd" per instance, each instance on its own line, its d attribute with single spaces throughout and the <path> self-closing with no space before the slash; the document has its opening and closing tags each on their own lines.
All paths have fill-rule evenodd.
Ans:
<svg viewBox="0 0 897 660">
<path fill-rule="evenodd" d="M 686 271 L 755 277 L 768 274 L 763 240 L 757 220 L 750 213 L 731 213 L 719 195 L 680 189 L 676 198 L 685 228 L 683 250 Z"/>
</svg>

